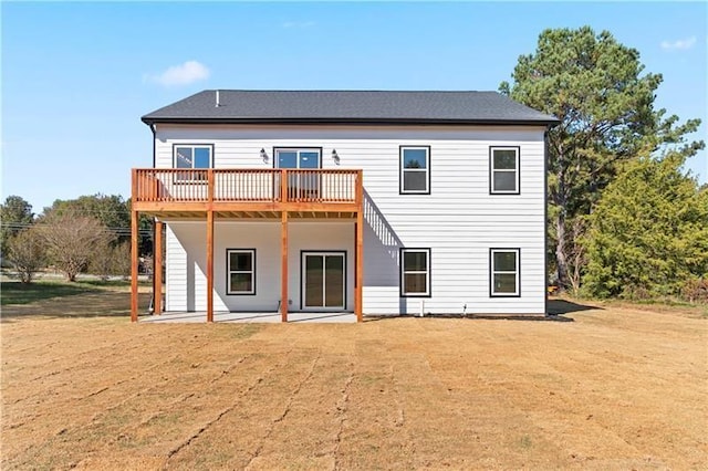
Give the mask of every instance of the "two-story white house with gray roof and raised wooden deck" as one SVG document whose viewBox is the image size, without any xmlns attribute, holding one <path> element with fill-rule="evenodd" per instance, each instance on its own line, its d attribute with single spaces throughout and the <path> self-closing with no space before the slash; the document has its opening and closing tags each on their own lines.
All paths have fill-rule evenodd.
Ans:
<svg viewBox="0 0 708 471">
<path fill-rule="evenodd" d="M 157 313 L 545 313 L 552 116 L 496 92 L 211 90 L 142 119 Z"/>
</svg>

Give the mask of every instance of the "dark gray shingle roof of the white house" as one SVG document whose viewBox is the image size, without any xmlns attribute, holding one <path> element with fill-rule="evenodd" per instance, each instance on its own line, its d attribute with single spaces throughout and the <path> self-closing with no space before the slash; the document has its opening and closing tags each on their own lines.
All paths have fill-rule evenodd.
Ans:
<svg viewBox="0 0 708 471">
<path fill-rule="evenodd" d="M 219 106 L 217 104 L 217 93 Z M 153 123 L 558 123 L 497 92 L 206 90 L 143 116 Z"/>
</svg>

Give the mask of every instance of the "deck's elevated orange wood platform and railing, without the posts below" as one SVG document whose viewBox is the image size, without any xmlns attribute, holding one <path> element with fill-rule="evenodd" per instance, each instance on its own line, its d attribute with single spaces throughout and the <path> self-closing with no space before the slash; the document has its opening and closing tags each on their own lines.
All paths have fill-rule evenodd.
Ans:
<svg viewBox="0 0 708 471">
<path fill-rule="evenodd" d="M 134 209 L 163 218 L 355 218 L 362 170 L 133 169 Z"/>
</svg>

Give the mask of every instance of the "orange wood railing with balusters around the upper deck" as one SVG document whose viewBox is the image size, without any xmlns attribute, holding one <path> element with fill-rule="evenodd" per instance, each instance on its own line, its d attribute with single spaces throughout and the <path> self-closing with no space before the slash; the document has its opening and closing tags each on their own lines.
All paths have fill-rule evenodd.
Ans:
<svg viewBox="0 0 708 471">
<path fill-rule="evenodd" d="M 356 202 L 361 170 L 133 169 L 139 202 Z"/>
</svg>

